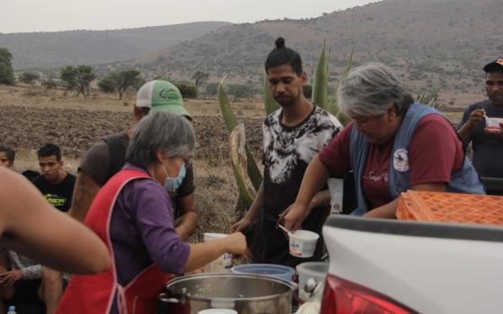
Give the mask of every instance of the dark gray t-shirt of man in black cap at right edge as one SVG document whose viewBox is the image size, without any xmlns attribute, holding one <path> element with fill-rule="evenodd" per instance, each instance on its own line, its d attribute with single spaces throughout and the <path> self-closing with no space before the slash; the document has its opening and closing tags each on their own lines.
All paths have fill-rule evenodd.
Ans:
<svg viewBox="0 0 503 314">
<path fill-rule="evenodd" d="M 484 109 L 490 118 L 503 118 L 503 109 L 490 106 L 489 100 L 483 100 L 472 104 L 464 110 L 463 118 L 458 126 L 460 128 L 468 121 L 470 114 L 475 109 Z M 499 160 L 503 156 L 503 140 L 494 136 L 486 135 L 484 128 L 486 123 L 482 120 L 470 130 L 470 140 L 473 148 L 473 166 L 481 177 L 503 178 L 503 162 Z"/>
</svg>

